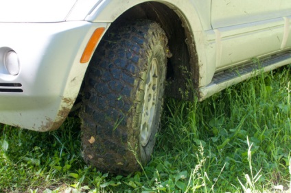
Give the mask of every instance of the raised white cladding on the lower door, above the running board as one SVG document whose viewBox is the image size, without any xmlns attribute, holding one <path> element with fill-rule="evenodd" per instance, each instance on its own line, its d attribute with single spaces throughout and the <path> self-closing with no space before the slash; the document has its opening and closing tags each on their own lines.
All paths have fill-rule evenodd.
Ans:
<svg viewBox="0 0 291 193">
<path fill-rule="evenodd" d="M 283 18 L 275 18 L 215 29 L 216 71 L 290 47 L 288 39 L 283 38 L 285 23 Z"/>
</svg>

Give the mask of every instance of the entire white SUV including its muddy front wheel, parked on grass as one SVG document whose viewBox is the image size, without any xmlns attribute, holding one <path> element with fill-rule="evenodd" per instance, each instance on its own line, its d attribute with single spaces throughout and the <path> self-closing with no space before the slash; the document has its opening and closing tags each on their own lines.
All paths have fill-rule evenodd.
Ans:
<svg viewBox="0 0 291 193">
<path fill-rule="evenodd" d="M 150 160 L 164 93 L 291 63 L 290 0 L 10 0 L 0 29 L 0 122 L 51 131 L 80 104 L 84 160 L 119 174 Z"/>
</svg>

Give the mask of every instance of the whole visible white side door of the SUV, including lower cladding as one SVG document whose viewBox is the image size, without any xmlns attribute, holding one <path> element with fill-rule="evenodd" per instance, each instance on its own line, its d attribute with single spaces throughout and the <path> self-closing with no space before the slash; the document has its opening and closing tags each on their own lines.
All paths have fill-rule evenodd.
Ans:
<svg viewBox="0 0 291 193">
<path fill-rule="evenodd" d="M 212 0 L 216 70 L 291 47 L 290 0 Z"/>
</svg>

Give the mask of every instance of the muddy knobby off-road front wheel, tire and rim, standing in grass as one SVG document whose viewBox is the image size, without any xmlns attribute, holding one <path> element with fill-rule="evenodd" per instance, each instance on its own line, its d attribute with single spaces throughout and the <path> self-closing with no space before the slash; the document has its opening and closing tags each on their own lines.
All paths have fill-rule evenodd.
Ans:
<svg viewBox="0 0 291 193">
<path fill-rule="evenodd" d="M 109 30 L 84 81 L 82 154 L 101 171 L 127 175 L 150 161 L 170 51 L 165 32 L 152 21 Z"/>
</svg>

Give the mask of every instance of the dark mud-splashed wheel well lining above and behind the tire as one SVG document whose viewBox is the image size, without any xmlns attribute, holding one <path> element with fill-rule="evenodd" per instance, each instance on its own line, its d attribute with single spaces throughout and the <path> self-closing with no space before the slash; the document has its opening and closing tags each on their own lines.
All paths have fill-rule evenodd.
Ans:
<svg viewBox="0 0 291 193">
<path fill-rule="evenodd" d="M 163 3 L 148 2 L 130 8 L 111 24 L 126 23 L 132 19 L 149 19 L 161 25 L 169 40 L 168 46 L 172 57 L 167 64 L 167 97 L 191 99 L 193 92 L 189 89 L 198 86 L 198 68 L 194 42 L 183 16 Z M 191 54 L 192 53 L 192 54 Z M 194 57 L 193 57 L 194 55 Z M 191 94 L 192 93 L 192 94 Z"/>
</svg>

